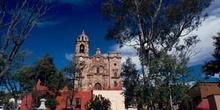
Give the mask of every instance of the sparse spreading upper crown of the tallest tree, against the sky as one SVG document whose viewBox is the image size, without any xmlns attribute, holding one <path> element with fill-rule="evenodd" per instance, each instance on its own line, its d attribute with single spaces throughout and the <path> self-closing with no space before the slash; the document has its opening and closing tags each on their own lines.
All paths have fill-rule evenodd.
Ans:
<svg viewBox="0 0 220 110">
<path fill-rule="evenodd" d="M 136 40 L 140 48 L 146 49 L 147 45 L 154 54 L 158 50 L 168 51 L 178 43 L 179 37 L 183 37 L 183 31 L 191 32 L 201 24 L 203 17 L 207 16 L 202 15 L 202 11 L 211 1 L 108 0 L 101 10 L 105 19 L 114 24 L 106 38 L 121 46 Z M 156 48 L 158 46 L 160 48 Z"/>
</svg>

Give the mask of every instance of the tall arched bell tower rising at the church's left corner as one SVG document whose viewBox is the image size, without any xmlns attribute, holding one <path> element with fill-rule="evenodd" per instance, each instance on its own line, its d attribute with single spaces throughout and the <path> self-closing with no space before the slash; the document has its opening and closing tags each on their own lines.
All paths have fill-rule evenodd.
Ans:
<svg viewBox="0 0 220 110">
<path fill-rule="evenodd" d="M 82 34 L 78 36 L 76 40 L 76 57 L 89 57 L 89 38 L 85 34 L 85 31 L 82 31 Z"/>
</svg>

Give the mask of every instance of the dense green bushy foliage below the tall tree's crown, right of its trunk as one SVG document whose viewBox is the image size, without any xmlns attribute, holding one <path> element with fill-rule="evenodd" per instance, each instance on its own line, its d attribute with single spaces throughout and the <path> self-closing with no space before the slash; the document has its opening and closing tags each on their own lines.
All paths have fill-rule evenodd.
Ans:
<svg viewBox="0 0 220 110">
<path fill-rule="evenodd" d="M 168 106 L 170 95 L 173 104 L 181 104 L 189 99 L 187 91 L 189 87 L 185 81 L 189 69 L 185 63 L 178 62 L 176 57 L 163 54 L 150 63 L 150 86 L 153 89 L 153 101 Z M 152 99 L 151 99 L 152 100 Z"/>
</svg>

